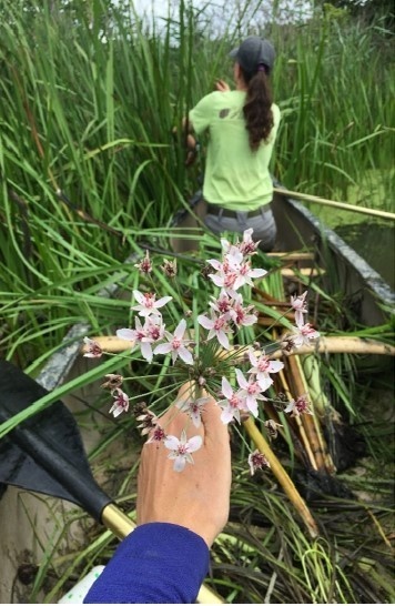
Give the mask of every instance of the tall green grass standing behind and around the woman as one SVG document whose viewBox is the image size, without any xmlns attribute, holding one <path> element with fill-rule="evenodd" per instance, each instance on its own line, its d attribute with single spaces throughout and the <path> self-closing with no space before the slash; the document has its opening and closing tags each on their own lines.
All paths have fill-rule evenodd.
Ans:
<svg viewBox="0 0 395 606">
<path fill-rule="evenodd" d="M 164 234 L 198 189 L 204 154 L 186 171 L 172 129 L 216 78 L 231 80 L 229 49 L 247 32 L 247 9 L 256 17 L 260 7 L 249 2 L 221 38 L 207 24 L 210 7 L 185 2 L 160 29 L 132 4 L 21 7 L 6 3 L 0 42 L 0 289 L 2 350 L 20 352 L 23 364 L 22 325 L 44 349 L 67 320 L 101 316 L 78 293 L 99 290 L 142 230 Z M 273 171 L 285 185 L 346 196 L 350 184 L 364 183 L 368 205 L 373 171 L 372 188 L 383 175 L 386 205 L 395 80 L 379 26 L 336 13 L 260 29 L 277 49 L 283 120 Z M 156 242 L 168 245 L 160 232 Z"/>
</svg>

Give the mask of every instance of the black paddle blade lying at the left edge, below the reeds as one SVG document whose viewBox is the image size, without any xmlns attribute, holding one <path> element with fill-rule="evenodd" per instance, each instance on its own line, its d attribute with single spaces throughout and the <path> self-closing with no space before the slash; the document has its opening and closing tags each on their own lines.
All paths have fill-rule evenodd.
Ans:
<svg viewBox="0 0 395 606">
<path fill-rule="evenodd" d="M 0 423 L 47 393 L 0 360 Z M 0 440 L 0 483 L 71 501 L 99 522 L 111 503 L 92 476 L 75 420 L 60 401 Z"/>
</svg>

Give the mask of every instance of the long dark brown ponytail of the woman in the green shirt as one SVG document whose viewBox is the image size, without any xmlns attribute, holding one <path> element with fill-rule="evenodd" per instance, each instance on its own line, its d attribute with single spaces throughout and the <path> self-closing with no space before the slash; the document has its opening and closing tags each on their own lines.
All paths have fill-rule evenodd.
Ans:
<svg viewBox="0 0 395 606">
<path fill-rule="evenodd" d="M 274 124 L 271 109 L 273 98 L 266 69 L 265 65 L 260 65 L 257 71 L 249 73 L 241 68 L 247 84 L 243 114 L 251 151 L 256 151 L 261 141 L 267 140 Z"/>
</svg>

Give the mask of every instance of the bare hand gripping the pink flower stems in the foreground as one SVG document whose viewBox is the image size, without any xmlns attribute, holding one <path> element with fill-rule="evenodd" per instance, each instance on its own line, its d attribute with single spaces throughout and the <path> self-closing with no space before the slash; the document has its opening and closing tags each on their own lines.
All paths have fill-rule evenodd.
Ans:
<svg viewBox="0 0 395 606">
<path fill-rule="evenodd" d="M 192 386 L 183 385 L 179 398 Z M 205 396 L 206 394 L 204 394 Z M 145 444 L 142 450 L 138 481 L 138 525 L 148 522 L 179 524 L 200 535 L 209 548 L 229 517 L 231 492 L 231 448 L 227 426 L 220 418 L 221 408 L 209 396 L 196 430 L 190 417 L 171 407 L 161 417 L 168 435 L 201 435 L 203 444 L 193 453 L 194 465 L 186 463 L 182 472 L 173 469 L 173 461 L 163 443 Z"/>
</svg>

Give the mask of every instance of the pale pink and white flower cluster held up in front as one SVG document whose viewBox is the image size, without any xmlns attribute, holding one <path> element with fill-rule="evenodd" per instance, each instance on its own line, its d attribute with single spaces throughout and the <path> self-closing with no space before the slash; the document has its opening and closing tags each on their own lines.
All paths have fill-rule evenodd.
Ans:
<svg viewBox="0 0 395 606">
<path fill-rule="evenodd" d="M 133 290 L 132 327 L 118 330 L 117 336 L 129 341 L 131 351 L 140 354 L 149 364 L 163 364 L 163 358 L 169 357 L 165 374 L 173 373 L 178 381 L 189 381 L 194 385 L 185 396 L 174 403 L 174 414 L 183 413 L 185 417 L 185 428 L 180 436 L 168 435 L 165 424 L 161 424 L 161 413 L 150 410 L 153 406 L 144 407 L 143 414 L 140 411 L 136 416 L 140 421 L 139 427 L 143 435 L 148 435 L 148 441 L 163 443 L 170 451 L 168 456 L 173 461 L 176 472 L 182 472 L 186 464 L 193 464 L 192 454 L 202 446 L 202 437 L 191 435 L 191 431 L 200 427 L 204 414 L 207 398 L 204 397 L 203 386 L 221 408 L 222 422 L 237 424 L 246 416 L 257 417 L 261 411 L 264 412 L 265 402 L 269 400 L 267 390 L 272 387 L 275 375 L 284 368 L 283 362 L 272 360 L 255 341 L 250 346 L 243 345 L 239 356 L 233 347 L 240 332 L 245 329 L 251 331 L 257 323 L 257 311 L 251 302 L 246 304 L 244 299 L 245 293 L 249 294 L 254 286 L 254 281 L 264 279 L 267 273 L 263 269 L 253 267 L 252 259 L 259 243 L 253 241 L 252 234 L 252 230 L 246 230 L 242 241 L 236 243 L 221 240 L 222 257 L 210 259 L 210 269 L 205 271 L 209 284 L 213 286 L 213 294 L 210 295 L 205 310 L 200 310 L 195 317 L 191 311 L 185 311 L 185 303 L 179 306 L 176 316 L 178 305 L 173 297 L 161 296 L 161 293 L 154 292 L 152 284 L 155 273 L 148 252 L 141 263 L 135 265 L 144 284 L 149 277 L 151 286 L 150 290 L 142 286 Z M 175 262 L 168 260 L 162 260 L 161 270 L 172 283 L 180 273 Z M 276 345 L 277 349 L 291 351 L 320 336 L 306 322 L 306 292 L 291 296 L 290 307 L 295 314 L 295 326 Z M 171 301 L 170 312 L 168 304 Z M 259 333 L 254 333 L 254 340 L 257 336 Z M 87 356 L 102 355 L 98 343 L 88 337 L 84 341 Z M 273 344 L 270 351 L 273 352 Z M 152 374 L 152 370 L 148 374 Z M 107 376 L 108 381 L 103 386 L 110 388 L 113 397 L 110 412 L 119 416 L 122 412 L 128 412 L 131 401 L 136 396 L 131 397 L 120 388 L 128 380 L 122 382 L 120 375 Z M 282 405 L 283 412 L 290 416 L 312 414 L 305 395 Z M 275 437 L 277 426 L 280 425 L 274 421 L 265 422 L 270 437 Z M 249 464 L 251 473 L 269 465 L 259 452 L 251 453 Z"/>
</svg>

